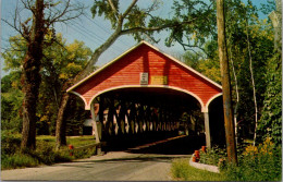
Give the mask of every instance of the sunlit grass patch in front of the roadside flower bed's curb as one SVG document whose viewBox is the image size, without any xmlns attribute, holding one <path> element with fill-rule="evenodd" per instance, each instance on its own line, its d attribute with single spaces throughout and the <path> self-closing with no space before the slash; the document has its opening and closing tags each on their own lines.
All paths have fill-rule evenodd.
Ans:
<svg viewBox="0 0 283 182">
<path fill-rule="evenodd" d="M 172 162 L 171 174 L 176 181 L 223 181 L 221 173 L 196 169 L 188 163 L 188 158 L 175 159 Z"/>
</svg>

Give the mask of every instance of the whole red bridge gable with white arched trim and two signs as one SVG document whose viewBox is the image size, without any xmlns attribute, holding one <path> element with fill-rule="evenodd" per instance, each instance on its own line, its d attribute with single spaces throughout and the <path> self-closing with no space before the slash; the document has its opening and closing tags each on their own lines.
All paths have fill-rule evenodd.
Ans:
<svg viewBox="0 0 283 182">
<path fill-rule="evenodd" d="M 187 93 L 207 108 L 221 86 L 192 68 L 143 41 L 67 89 L 90 108 L 98 95 L 116 88 L 164 87 Z"/>
</svg>

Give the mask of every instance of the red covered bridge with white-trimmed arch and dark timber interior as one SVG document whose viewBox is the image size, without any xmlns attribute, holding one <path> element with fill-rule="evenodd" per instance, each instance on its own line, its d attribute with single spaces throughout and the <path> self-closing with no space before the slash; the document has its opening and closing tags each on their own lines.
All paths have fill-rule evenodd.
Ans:
<svg viewBox="0 0 283 182">
<path fill-rule="evenodd" d="M 198 121 L 190 117 L 193 111 L 199 111 L 210 147 L 209 107 L 221 98 L 222 87 L 142 41 L 67 92 L 79 96 L 85 109 L 91 111 L 97 142 L 188 125 L 194 133 Z"/>
</svg>

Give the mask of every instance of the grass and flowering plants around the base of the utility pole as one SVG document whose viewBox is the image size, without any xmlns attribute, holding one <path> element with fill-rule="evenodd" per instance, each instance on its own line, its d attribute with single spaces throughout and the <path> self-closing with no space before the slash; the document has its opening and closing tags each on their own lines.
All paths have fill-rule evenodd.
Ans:
<svg viewBox="0 0 283 182">
<path fill-rule="evenodd" d="M 220 173 L 190 167 L 189 159 L 172 163 L 172 175 L 177 181 L 281 181 L 282 149 L 268 137 L 258 146 L 238 148 L 238 165 L 226 162 L 226 151 L 218 147 L 200 151 L 200 163 L 218 166 Z"/>
</svg>

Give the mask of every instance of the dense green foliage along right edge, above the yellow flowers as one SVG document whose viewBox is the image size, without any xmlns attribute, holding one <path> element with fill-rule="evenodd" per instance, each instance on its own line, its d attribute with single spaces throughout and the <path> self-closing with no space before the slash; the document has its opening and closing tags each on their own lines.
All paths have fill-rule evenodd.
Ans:
<svg viewBox="0 0 283 182">
<path fill-rule="evenodd" d="M 259 142 L 271 136 L 275 144 L 282 143 L 282 57 L 280 52 L 268 60 L 268 82 L 262 116 L 258 124 Z"/>
</svg>

